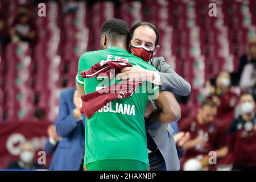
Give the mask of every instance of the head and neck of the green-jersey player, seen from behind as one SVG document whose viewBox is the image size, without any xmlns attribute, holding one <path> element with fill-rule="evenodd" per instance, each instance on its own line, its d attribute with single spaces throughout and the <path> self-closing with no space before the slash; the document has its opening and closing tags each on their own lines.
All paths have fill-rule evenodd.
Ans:
<svg viewBox="0 0 256 182">
<path fill-rule="evenodd" d="M 121 19 L 109 19 L 101 27 L 101 48 L 106 49 L 115 44 L 127 44 L 129 27 Z"/>
</svg>

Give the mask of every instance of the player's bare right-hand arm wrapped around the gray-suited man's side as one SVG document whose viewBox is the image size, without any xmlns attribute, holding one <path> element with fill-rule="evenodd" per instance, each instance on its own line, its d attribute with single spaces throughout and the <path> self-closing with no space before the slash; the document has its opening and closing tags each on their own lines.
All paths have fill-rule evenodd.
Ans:
<svg viewBox="0 0 256 182">
<path fill-rule="evenodd" d="M 161 109 L 153 111 L 149 116 L 151 119 L 162 123 L 170 123 L 180 119 L 180 105 L 171 92 L 159 90 L 155 104 Z"/>
</svg>

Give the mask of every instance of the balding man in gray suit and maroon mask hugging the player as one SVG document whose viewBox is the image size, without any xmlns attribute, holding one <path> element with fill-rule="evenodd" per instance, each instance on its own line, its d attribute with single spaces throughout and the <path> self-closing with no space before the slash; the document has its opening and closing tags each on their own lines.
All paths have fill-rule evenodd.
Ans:
<svg viewBox="0 0 256 182">
<path fill-rule="evenodd" d="M 162 85 L 162 90 L 168 90 L 180 96 L 187 96 L 191 92 L 191 85 L 181 76 L 177 75 L 174 69 L 166 63 L 163 57 L 152 58 L 159 50 L 159 33 L 154 24 L 139 22 L 130 30 L 129 52 L 141 57 L 144 61 L 149 61 L 160 73 L 148 71 L 141 67 L 124 68 L 119 79 L 147 77 L 148 81 Z M 154 111 L 153 111 L 154 110 Z M 156 109 L 157 110 L 157 109 Z M 155 113 L 155 108 L 149 102 L 145 117 L 147 130 L 148 158 L 150 160 L 150 170 L 179 170 L 180 162 L 170 124 L 163 124 L 150 119 L 151 112 Z M 188 139 L 184 135 L 183 140 Z"/>
</svg>

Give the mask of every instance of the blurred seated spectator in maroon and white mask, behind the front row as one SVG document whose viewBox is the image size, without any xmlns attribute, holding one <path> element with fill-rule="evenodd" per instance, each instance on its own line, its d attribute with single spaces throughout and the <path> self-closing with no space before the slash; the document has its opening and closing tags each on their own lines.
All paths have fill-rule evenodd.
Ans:
<svg viewBox="0 0 256 182">
<path fill-rule="evenodd" d="M 222 122 L 228 130 L 230 118 L 234 118 L 234 110 L 238 102 L 238 94 L 231 86 L 230 74 L 227 71 L 221 71 L 216 78 L 215 88 L 209 88 L 212 92 L 208 98 L 211 98 L 217 104 L 217 120 Z"/>
</svg>

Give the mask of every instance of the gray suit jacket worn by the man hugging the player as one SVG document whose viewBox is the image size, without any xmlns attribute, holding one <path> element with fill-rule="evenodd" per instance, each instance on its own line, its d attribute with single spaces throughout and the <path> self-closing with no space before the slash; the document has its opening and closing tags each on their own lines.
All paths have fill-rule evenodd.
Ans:
<svg viewBox="0 0 256 182">
<path fill-rule="evenodd" d="M 181 96 L 187 96 L 191 92 L 190 84 L 181 76 L 177 75 L 163 57 L 151 59 L 150 64 L 160 72 L 163 82 L 162 90 L 168 90 Z M 156 146 L 158 146 L 164 158 L 167 171 L 179 170 L 180 162 L 174 142 L 174 130 L 171 125 L 153 121 L 152 119 L 146 119 L 145 123 L 146 130 L 154 139 Z"/>
</svg>

